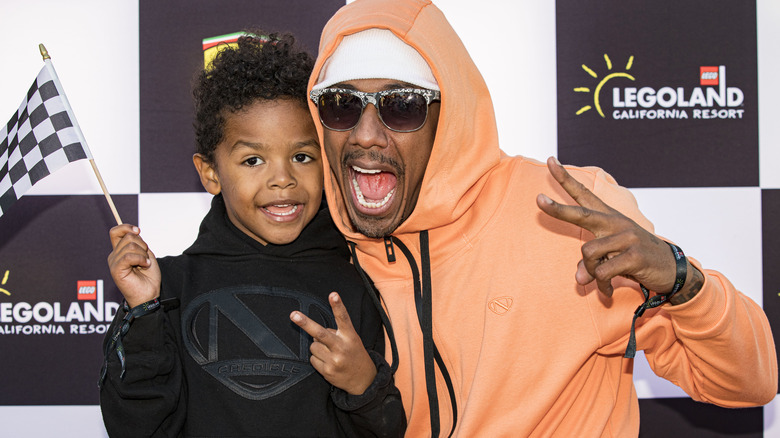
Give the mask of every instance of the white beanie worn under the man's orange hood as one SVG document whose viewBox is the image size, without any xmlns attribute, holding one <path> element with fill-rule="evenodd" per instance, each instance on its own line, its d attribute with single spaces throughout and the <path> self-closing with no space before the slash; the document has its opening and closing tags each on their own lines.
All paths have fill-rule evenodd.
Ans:
<svg viewBox="0 0 780 438">
<path fill-rule="evenodd" d="M 395 79 L 439 90 L 425 59 L 387 29 L 367 29 L 345 36 L 325 61 L 312 89 L 355 79 Z"/>
</svg>

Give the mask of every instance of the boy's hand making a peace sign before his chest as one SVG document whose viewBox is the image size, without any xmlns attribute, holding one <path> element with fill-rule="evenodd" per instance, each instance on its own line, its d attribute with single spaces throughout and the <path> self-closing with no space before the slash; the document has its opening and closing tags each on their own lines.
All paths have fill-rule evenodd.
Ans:
<svg viewBox="0 0 780 438">
<path fill-rule="evenodd" d="M 311 344 L 311 364 L 331 385 L 352 395 L 363 394 L 376 377 L 376 366 L 360 340 L 347 308 L 336 292 L 328 297 L 336 329 L 326 329 L 301 312 L 290 314 L 290 319 L 306 331 Z"/>
</svg>

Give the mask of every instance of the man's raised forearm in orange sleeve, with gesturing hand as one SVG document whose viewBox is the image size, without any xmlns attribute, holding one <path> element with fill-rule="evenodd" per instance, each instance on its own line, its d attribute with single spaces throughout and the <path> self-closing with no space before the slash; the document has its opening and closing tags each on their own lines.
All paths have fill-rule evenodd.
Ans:
<svg viewBox="0 0 780 438">
<path fill-rule="evenodd" d="M 671 292 L 677 263 L 670 245 L 604 203 L 557 160 L 551 158 L 547 165 L 579 205 L 559 204 L 540 194 L 539 208 L 595 237 L 582 246 L 577 282 L 595 280 L 608 296 L 616 277 L 656 293 Z M 774 398 L 777 355 L 766 314 L 755 302 L 693 259 L 686 259 L 685 283 L 669 301 L 637 321 L 638 349 L 645 350 L 656 374 L 696 400 L 722 406 L 765 404 Z"/>
</svg>

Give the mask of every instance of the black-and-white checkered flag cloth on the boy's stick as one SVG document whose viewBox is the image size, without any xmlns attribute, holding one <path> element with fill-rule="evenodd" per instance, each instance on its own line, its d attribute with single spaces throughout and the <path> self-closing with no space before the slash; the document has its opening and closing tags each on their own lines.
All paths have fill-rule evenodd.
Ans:
<svg viewBox="0 0 780 438">
<path fill-rule="evenodd" d="M 35 183 L 88 158 L 53 68 L 38 73 L 19 110 L 0 130 L 0 216 Z"/>
</svg>

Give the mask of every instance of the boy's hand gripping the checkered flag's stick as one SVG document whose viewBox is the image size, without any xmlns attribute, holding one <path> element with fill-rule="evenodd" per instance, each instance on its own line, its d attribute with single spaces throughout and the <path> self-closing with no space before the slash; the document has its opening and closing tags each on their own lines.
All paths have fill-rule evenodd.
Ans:
<svg viewBox="0 0 780 438">
<path fill-rule="evenodd" d="M 108 268 L 130 308 L 159 297 L 162 281 L 157 259 L 139 233 L 129 224 L 109 231 L 114 250 L 108 255 Z"/>
</svg>

